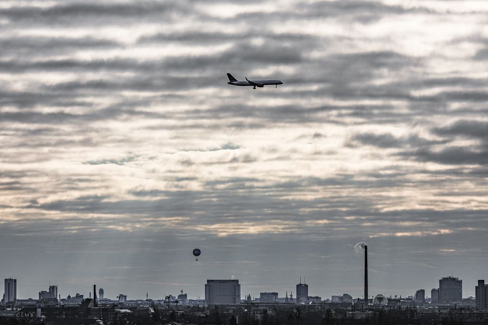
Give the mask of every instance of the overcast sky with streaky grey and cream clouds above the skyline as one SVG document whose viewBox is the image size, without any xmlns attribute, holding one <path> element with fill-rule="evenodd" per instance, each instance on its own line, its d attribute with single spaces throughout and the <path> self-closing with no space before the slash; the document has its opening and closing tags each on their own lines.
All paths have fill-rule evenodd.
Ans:
<svg viewBox="0 0 488 325">
<path fill-rule="evenodd" d="M 0 3 L 20 298 L 411 295 L 488 279 L 488 1 Z M 280 79 L 283 85 L 227 85 Z M 195 261 L 191 252 L 202 250 Z"/>
</svg>

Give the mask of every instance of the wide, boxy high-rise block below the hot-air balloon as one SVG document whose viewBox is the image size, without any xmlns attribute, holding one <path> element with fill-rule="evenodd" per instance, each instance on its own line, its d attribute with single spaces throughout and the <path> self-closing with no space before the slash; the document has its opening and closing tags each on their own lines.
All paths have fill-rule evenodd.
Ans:
<svg viewBox="0 0 488 325">
<path fill-rule="evenodd" d="M 241 303 L 239 280 L 207 280 L 205 300 L 209 305 L 230 305 Z"/>
</svg>

